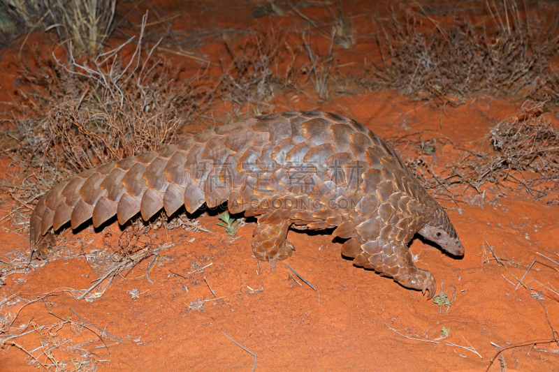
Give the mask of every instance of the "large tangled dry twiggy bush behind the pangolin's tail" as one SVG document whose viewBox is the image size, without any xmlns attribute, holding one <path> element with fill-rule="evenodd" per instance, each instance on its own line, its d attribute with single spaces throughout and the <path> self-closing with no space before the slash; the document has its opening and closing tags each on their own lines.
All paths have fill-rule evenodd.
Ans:
<svg viewBox="0 0 559 372">
<path fill-rule="evenodd" d="M 21 105 L 36 108 L 36 116 L 22 109 L 8 133 L 16 142 L 4 139 L 15 171 L 3 191 L 18 203 L 33 200 L 71 174 L 167 144 L 204 110 L 212 89 L 199 76 L 177 83 L 142 34 L 128 59 L 122 50 L 132 39 L 89 64 L 72 54 L 62 64 L 53 55 L 22 71 Z"/>
</svg>

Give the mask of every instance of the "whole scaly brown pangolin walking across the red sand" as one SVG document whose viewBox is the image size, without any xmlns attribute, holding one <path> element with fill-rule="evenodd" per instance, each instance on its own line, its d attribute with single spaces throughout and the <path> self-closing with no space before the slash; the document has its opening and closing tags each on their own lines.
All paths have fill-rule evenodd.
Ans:
<svg viewBox="0 0 559 372">
<path fill-rule="evenodd" d="M 48 232 L 71 222 L 97 228 L 117 215 L 147 221 L 184 205 L 227 202 L 231 214 L 257 216 L 252 250 L 285 260 L 291 228 L 335 228 L 342 255 L 433 297 L 435 278 L 414 265 L 407 244 L 419 232 L 453 255 L 464 248 L 447 213 L 400 156 L 353 119 L 330 112 L 266 114 L 188 137 L 156 151 L 87 170 L 54 186 L 30 221 L 31 252 L 45 258 Z"/>
</svg>

